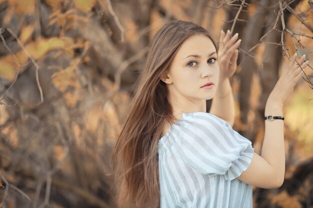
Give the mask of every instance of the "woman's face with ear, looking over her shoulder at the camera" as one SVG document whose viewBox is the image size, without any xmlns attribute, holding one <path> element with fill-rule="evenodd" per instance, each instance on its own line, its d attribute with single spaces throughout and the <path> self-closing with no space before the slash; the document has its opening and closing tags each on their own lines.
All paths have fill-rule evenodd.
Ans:
<svg viewBox="0 0 313 208">
<path fill-rule="evenodd" d="M 206 35 L 197 34 L 181 44 L 162 81 L 167 84 L 170 99 L 196 102 L 213 98 L 218 75 L 213 42 Z M 207 83 L 210 85 L 202 87 Z"/>
</svg>

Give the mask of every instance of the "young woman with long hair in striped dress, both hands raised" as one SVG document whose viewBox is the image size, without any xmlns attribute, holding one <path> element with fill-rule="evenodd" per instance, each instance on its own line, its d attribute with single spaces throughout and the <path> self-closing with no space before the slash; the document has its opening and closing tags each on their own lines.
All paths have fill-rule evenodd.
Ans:
<svg viewBox="0 0 313 208">
<path fill-rule="evenodd" d="M 231 128 L 237 39 L 221 31 L 217 50 L 191 22 L 170 21 L 157 31 L 113 152 L 119 206 L 251 208 L 251 186 L 281 186 L 282 107 L 307 61 L 301 57 L 299 67 L 293 56 L 272 90 L 258 155 Z"/>
</svg>

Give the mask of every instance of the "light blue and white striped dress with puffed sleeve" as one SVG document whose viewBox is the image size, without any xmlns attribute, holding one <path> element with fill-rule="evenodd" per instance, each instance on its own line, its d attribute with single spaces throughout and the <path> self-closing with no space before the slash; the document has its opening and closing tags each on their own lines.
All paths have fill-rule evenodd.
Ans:
<svg viewBox="0 0 313 208">
<path fill-rule="evenodd" d="M 216 116 L 183 113 L 158 141 L 161 208 L 252 208 L 252 187 L 236 179 L 251 142 Z"/>
</svg>

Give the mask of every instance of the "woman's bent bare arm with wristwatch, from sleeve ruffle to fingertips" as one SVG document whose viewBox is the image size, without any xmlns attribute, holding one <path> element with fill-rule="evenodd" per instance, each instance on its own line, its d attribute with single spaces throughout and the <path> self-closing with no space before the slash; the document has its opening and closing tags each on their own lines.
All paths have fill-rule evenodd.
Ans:
<svg viewBox="0 0 313 208">
<path fill-rule="evenodd" d="M 298 63 L 296 56 L 290 60 L 287 70 L 280 76 L 274 89 L 270 93 L 264 116 L 282 116 L 282 107 L 288 101 L 295 84 L 302 76 L 302 69 L 306 67 L 305 56 Z M 304 63 L 303 63 L 304 62 Z M 283 138 L 283 120 L 265 120 L 265 134 L 261 155 L 253 154 L 252 161 L 246 171 L 237 178 L 247 184 L 264 188 L 277 188 L 283 183 L 285 172 L 285 153 Z"/>
</svg>

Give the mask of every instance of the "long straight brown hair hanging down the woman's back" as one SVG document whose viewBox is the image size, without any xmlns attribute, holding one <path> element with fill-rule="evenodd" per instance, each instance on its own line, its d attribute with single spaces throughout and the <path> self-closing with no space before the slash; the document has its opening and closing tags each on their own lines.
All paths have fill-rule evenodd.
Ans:
<svg viewBox="0 0 313 208">
<path fill-rule="evenodd" d="M 167 87 L 160 80 L 182 42 L 203 27 L 174 20 L 164 24 L 150 42 L 129 114 L 117 139 L 112 165 L 120 207 L 159 207 L 157 144 L 167 122 L 174 122 Z"/>
</svg>

